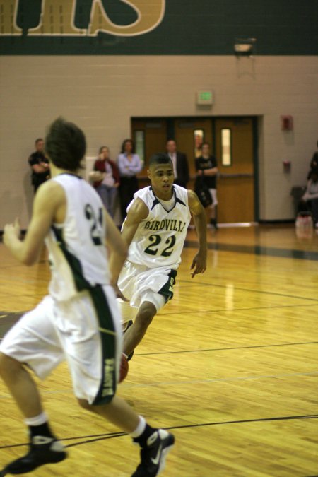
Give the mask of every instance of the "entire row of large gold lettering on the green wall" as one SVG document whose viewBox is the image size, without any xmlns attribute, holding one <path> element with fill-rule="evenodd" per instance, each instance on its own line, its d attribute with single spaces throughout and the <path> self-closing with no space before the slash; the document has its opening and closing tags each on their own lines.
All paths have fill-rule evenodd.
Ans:
<svg viewBox="0 0 318 477">
<path fill-rule="evenodd" d="M 28 37 L 43 35 L 94 37 L 101 32 L 131 37 L 150 32 L 163 20 L 165 0 L 124 0 L 124 2 L 136 12 L 137 19 L 133 23 L 130 25 L 113 23 L 107 16 L 102 0 L 93 0 L 88 28 L 84 29 L 76 27 L 75 23 L 78 0 L 42 0 L 37 12 L 38 24 L 28 28 L 26 34 Z M 26 3 L 22 0 L 0 0 L 0 36 L 25 34 L 25 28 L 20 23 L 23 22 L 21 13 Z"/>
</svg>

